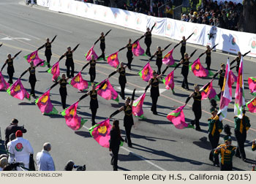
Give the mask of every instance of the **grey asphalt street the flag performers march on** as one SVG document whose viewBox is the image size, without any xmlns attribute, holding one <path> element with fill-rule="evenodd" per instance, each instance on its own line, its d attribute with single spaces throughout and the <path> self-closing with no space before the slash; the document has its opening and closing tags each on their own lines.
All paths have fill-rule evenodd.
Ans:
<svg viewBox="0 0 256 184">
<path fill-rule="evenodd" d="M 19 50 L 23 52 L 14 61 L 16 80 L 20 74 L 29 67 L 29 64 L 23 58 L 24 55 L 31 53 L 45 43 L 45 38 L 52 39 L 56 34 L 58 37 L 53 42 L 52 52 L 53 57 L 51 64 L 58 61 L 60 55 L 66 50 L 67 46 L 75 47 L 80 43 L 80 47 L 75 51 L 75 70 L 80 71 L 82 66 L 86 64 L 83 55 L 89 50 L 91 45 L 99 38 L 101 31 L 112 31 L 106 37 L 106 55 L 115 52 L 124 45 L 127 45 L 127 40 L 137 39 L 143 33 L 139 31 L 132 31 L 127 28 L 112 26 L 105 23 L 99 23 L 94 20 L 87 20 L 85 18 L 77 18 L 72 15 L 65 15 L 58 12 L 51 12 L 42 7 L 28 7 L 20 4 L 19 1 L 5 0 L 0 2 L 0 42 L 4 45 L 0 48 L 1 66 L 7 58 L 7 53 L 18 53 Z M 159 37 L 152 37 L 151 53 L 157 48 L 157 45 L 165 47 L 170 42 L 173 42 L 173 47 L 176 41 L 170 39 L 161 39 Z M 140 42 L 143 48 L 146 48 L 143 40 Z M 197 47 L 195 45 L 187 46 L 187 53 L 192 53 L 197 48 L 197 53 L 193 56 L 191 61 L 194 61 L 205 48 Z M 100 54 L 99 43 L 95 46 L 95 50 Z M 45 58 L 44 50 L 39 50 L 40 58 Z M 127 63 L 126 50 L 118 54 L 119 60 Z M 227 55 L 224 53 L 212 53 L 211 69 L 216 72 L 220 68 L 221 63 L 226 63 L 227 57 L 230 61 L 235 58 L 234 55 Z M 174 52 L 174 58 L 178 61 L 181 58 L 179 47 Z M 143 93 L 147 83 L 140 79 L 138 72 L 147 63 L 148 57 L 141 56 L 135 57 L 132 61 L 132 71 L 127 69 L 127 88 L 126 95 L 131 96 L 132 90 L 137 88 L 136 97 Z M 202 64 L 205 64 L 205 56 L 202 57 Z M 153 69 L 157 70 L 154 61 L 151 62 Z M 60 63 L 61 72 L 66 72 L 64 60 Z M 50 87 L 51 74 L 45 72 L 47 68 L 37 68 L 37 84 L 36 94 L 41 95 Z M 96 81 L 101 82 L 108 77 L 108 74 L 114 71 L 113 67 L 109 66 L 105 61 L 99 61 L 96 66 L 97 77 Z M 165 69 L 165 66 L 162 66 Z M 83 78 L 89 80 L 89 68 L 83 72 Z M 171 72 L 168 69 L 166 74 Z M 195 131 L 195 129 L 176 129 L 166 116 L 172 110 L 184 104 L 189 93 L 192 90 L 186 91 L 181 88 L 183 77 L 181 76 L 181 69 L 175 72 L 175 91 L 165 90 L 163 84 L 159 85 L 161 94 L 158 100 L 157 110 L 159 115 L 153 115 L 150 111 L 151 98 L 149 93 L 146 94 L 143 110 L 146 120 L 139 120 L 134 118 L 135 126 L 132 129 L 132 142 L 133 148 L 121 147 L 119 152 L 118 166 L 120 170 L 219 170 L 219 168 L 212 165 L 208 160 L 210 152 L 210 143 L 208 142 L 208 123 L 207 119 L 211 117 L 209 113 L 210 104 L 208 100 L 202 101 L 203 115 L 200 119 L 200 125 L 203 131 Z M 236 74 L 236 72 L 234 72 Z M 3 71 L 7 79 L 7 69 Z M 248 83 L 246 78 L 255 76 L 255 62 L 251 60 L 244 60 L 244 79 L 245 79 L 245 99 L 249 101 L 252 96 L 249 94 Z M 30 91 L 30 84 L 28 82 L 29 74 L 23 77 L 24 87 Z M 195 77 L 192 72 L 189 72 L 189 88 L 192 89 L 194 83 L 202 87 L 208 83 L 208 79 L 201 79 Z M 110 83 L 120 91 L 118 84 L 118 74 L 110 78 Z M 219 93 L 219 86 L 217 80 L 214 80 L 214 88 Z M 236 85 L 233 85 L 233 96 L 235 93 Z M 83 93 L 80 93 L 76 88 L 71 85 L 67 86 L 68 96 L 67 104 L 72 104 L 79 99 Z M 149 92 L 149 91 L 148 91 Z M 51 91 L 51 101 L 59 112 L 61 112 L 61 98 L 59 95 L 59 87 L 53 88 Z M 17 118 L 20 125 L 24 125 L 28 132 L 24 134 L 24 138 L 29 139 L 31 145 L 34 147 L 35 154 L 42 150 L 44 142 L 52 144 L 50 154 L 56 164 L 57 170 L 63 170 L 64 165 L 72 159 L 75 164 L 86 164 L 88 170 L 112 170 L 110 166 L 110 152 L 105 147 L 101 147 L 97 142 L 91 138 L 88 128 L 91 127 L 89 110 L 89 98 L 80 101 L 78 106 L 78 114 L 88 119 L 87 123 L 79 131 L 69 129 L 65 124 L 64 117 L 61 115 L 46 116 L 42 115 L 34 100 L 28 101 L 24 99 L 20 101 L 12 98 L 7 92 L 1 91 L 0 93 L 1 106 L 0 106 L 0 126 L 1 134 L 4 136 L 4 129 L 9 125 L 12 118 Z M 108 116 L 116 111 L 118 107 L 124 104 L 120 100 L 119 104 L 116 101 L 107 101 L 98 96 L 99 109 L 97 112 L 97 122 L 108 118 Z M 184 114 L 187 123 L 194 119 L 194 114 L 191 109 L 192 101 L 184 109 Z M 228 115 L 224 124 L 229 124 L 233 132 L 233 101 L 230 103 Z M 255 115 L 246 113 L 252 124 L 252 129 L 248 131 L 246 141 L 246 157 L 255 161 L 255 153 L 251 150 L 251 141 L 255 139 L 256 123 Z M 116 115 L 117 119 L 121 120 L 121 133 L 124 136 L 123 118 L 124 112 Z M 223 137 L 222 133 L 222 137 Z M 224 142 L 220 138 L 219 143 Z M 233 137 L 233 145 L 236 145 L 235 137 Z M 250 170 L 252 164 L 245 163 L 241 159 L 233 158 L 233 167 L 236 170 Z"/>
</svg>

